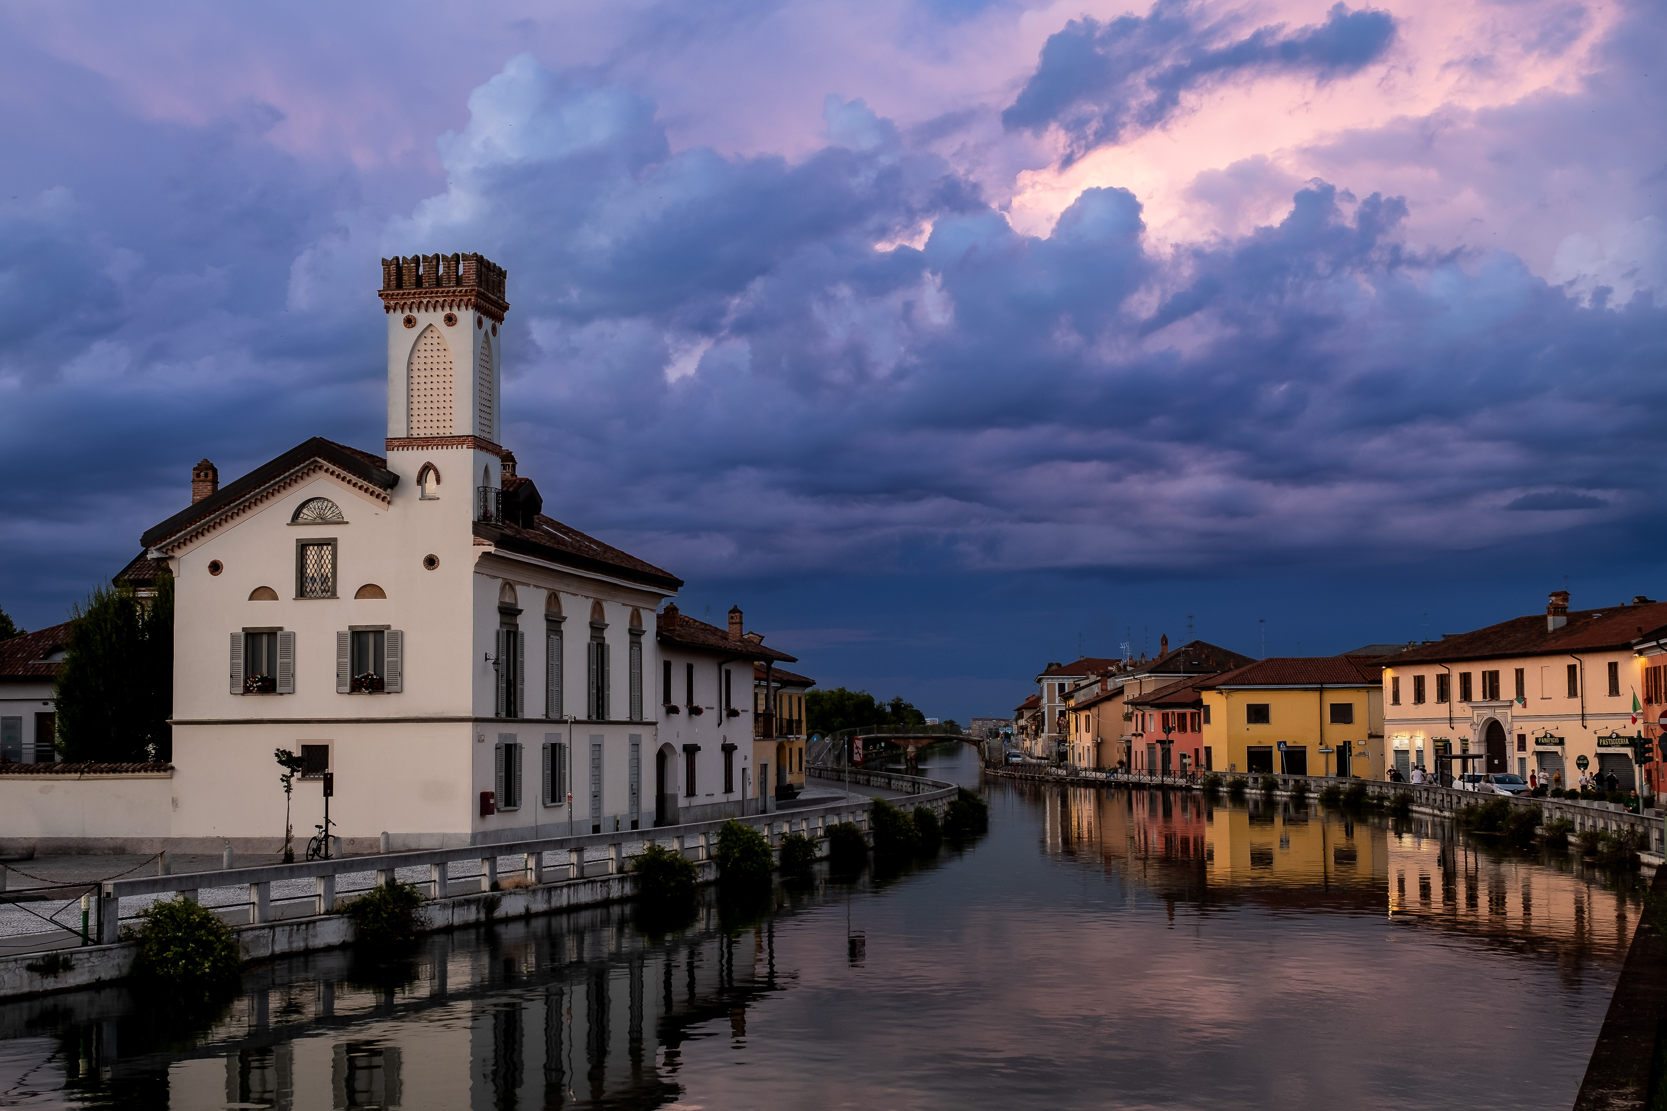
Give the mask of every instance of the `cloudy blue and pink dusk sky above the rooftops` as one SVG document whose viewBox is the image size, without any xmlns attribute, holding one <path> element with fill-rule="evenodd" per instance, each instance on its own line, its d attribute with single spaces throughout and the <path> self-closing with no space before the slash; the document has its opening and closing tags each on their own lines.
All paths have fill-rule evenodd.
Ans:
<svg viewBox="0 0 1667 1111">
<path fill-rule="evenodd" d="M 1667 13 L 0 8 L 0 606 L 323 435 L 378 258 L 508 268 L 545 508 L 825 685 L 1667 596 Z"/>
</svg>

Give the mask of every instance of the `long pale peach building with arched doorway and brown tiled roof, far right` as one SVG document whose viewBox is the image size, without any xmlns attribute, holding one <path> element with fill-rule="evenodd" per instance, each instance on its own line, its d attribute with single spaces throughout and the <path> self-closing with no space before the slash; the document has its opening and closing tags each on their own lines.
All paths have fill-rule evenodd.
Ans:
<svg viewBox="0 0 1667 1111">
<path fill-rule="evenodd" d="M 1477 755 L 1470 771 L 1514 771 L 1567 786 L 1615 775 L 1637 783 L 1624 738 L 1657 730 L 1662 670 L 1645 631 L 1667 625 L 1667 603 L 1639 596 L 1604 610 L 1569 610 L 1569 591 L 1545 613 L 1409 648 L 1384 660 L 1385 731 L 1397 768 L 1445 771 L 1442 753 Z M 1634 713 L 1634 708 L 1639 713 Z M 1620 735 L 1620 736 L 1610 736 Z M 1457 766 L 1452 766 L 1457 771 Z"/>
</svg>

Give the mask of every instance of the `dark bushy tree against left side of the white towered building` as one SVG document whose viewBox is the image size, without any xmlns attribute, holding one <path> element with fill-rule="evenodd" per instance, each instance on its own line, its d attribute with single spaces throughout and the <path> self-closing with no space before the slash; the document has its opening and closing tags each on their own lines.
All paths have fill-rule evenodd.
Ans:
<svg viewBox="0 0 1667 1111">
<path fill-rule="evenodd" d="M 63 760 L 172 760 L 172 576 L 158 576 L 150 598 L 100 586 L 72 610 L 57 710 L 57 746 Z"/>
</svg>

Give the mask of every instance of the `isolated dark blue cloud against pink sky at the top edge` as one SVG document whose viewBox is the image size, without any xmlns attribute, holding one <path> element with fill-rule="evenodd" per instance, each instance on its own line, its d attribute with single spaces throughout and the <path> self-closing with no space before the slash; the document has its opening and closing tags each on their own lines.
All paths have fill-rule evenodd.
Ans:
<svg viewBox="0 0 1667 1111">
<path fill-rule="evenodd" d="M 1232 38 L 1187 0 L 1107 23 L 1072 20 L 1042 47 L 1035 73 L 1002 113 L 1007 130 L 1042 135 L 1059 127 L 1065 163 L 1129 132 L 1162 125 L 1184 93 L 1235 75 L 1304 73 L 1325 80 L 1375 62 L 1395 38 L 1389 12 L 1332 7 L 1325 22 L 1294 32 L 1259 27 Z"/>
</svg>

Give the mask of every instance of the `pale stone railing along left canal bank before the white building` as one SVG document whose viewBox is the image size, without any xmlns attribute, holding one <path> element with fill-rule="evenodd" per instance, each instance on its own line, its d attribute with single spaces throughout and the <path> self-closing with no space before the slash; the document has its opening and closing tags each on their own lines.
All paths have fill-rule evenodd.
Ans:
<svg viewBox="0 0 1667 1111">
<path fill-rule="evenodd" d="M 950 788 L 954 791 L 954 788 Z M 823 839 L 830 826 L 852 821 L 867 831 L 872 803 L 845 798 L 822 806 L 803 806 L 770 815 L 735 818 L 742 825 L 758 828 L 772 846 L 788 833 L 803 833 Z M 328 914 L 342 896 L 368 891 L 390 878 L 417 883 L 427 888 L 428 898 L 447 898 L 453 893 L 495 891 L 505 883 L 533 886 L 585 879 L 587 876 L 618 874 L 648 844 L 665 844 L 692 859 L 707 859 L 718 830 L 727 820 L 697 821 L 657 830 L 620 830 L 565 838 L 538 838 L 525 841 L 500 841 L 455 849 L 418 849 L 413 853 L 378 853 L 320 859 L 303 864 L 267 864 L 258 868 L 232 868 L 217 871 L 183 873 L 177 876 L 142 876 L 135 879 L 110 879 L 100 884 L 97 899 L 97 941 L 110 944 L 120 939 L 122 924 L 133 923 L 138 911 L 157 896 L 177 896 L 202 901 L 233 924 L 260 924 L 310 914 Z M 630 851 L 635 849 L 635 851 Z M 507 864 L 505 864 L 507 861 Z M 477 864 L 463 874 L 453 874 L 453 864 Z M 343 879 L 355 883 L 347 884 Z M 455 891 L 462 881 L 463 891 Z M 207 891 L 232 891 L 230 901 L 208 901 Z M 288 909 L 290 913 L 283 913 Z M 300 911 L 300 913 L 295 913 Z M 242 919 L 242 921 L 237 921 Z"/>
</svg>

